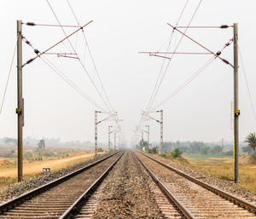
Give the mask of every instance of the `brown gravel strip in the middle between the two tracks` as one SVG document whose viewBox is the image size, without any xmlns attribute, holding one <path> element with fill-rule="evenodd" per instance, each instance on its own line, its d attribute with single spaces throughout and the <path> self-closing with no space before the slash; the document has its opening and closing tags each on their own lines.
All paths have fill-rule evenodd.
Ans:
<svg viewBox="0 0 256 219">
<path fill-rule="evenodd" d="M 126 151 L 106 178 L 96 213 L 91 218 L 165 218 L 150 191 L 150 176 Z"/>
</svg>

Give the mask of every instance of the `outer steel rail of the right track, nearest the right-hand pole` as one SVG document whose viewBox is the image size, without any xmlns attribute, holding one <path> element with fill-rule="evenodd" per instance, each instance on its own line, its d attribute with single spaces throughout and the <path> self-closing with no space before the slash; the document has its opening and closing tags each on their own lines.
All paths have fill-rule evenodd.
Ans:
<svg viewBox="0 0 256 219">
<path fill-rule="evenodd" d="M 141 153 L 141 152 L 138 152 L 138 153 Z M 233 194 L 227 193 L 227 192 L 219 189 L 218 187 L 213 187 L 212 185 L 208 184 L 207 182 L 201 182 L 200 180 L 196 179 L 195 177 L 185 174 L 183 171 L 177 170 L 168 164 L 164 164 L 164 163 L 160 162 L 159 160 L 148 156 L 148 154 L 145 154 L 145 153 L 141 153 L 141 154 L 154 160 L 156 163 L 165 166 L 167 169 L 174 171 L 178 175 L 183 176 L 184 178 L 188 179 L 189 181 L 195 182 L 197 185 L 206 188 L 207 190 L 211 191 L 212 193 L 216 193 L 219 196 L 223 197 L 224 199 L 228 199 L 231 202 L 235 203 L 236 205 L 241 205 L 242 207 L 247 208 L 247 210 L 251 210 L 254 213 L 256 213 L 256 205 L 253 205 L 252 203 L 249 203 L 244 199 L 238 198 Z"/>
</svg>

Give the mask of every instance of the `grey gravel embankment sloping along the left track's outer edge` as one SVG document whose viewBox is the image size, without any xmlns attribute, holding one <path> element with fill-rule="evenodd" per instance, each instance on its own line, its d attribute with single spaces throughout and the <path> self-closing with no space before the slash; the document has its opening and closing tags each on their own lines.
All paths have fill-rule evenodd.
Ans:
<svg viewBox="0 0 256 219">
<path fill-rule="evenodd" d="M 34 176 L 30 179 L 24 180 L 19 183 L 11 184 L 9 187 L 5 187 L 2 190 L 0 190 L 0 203 L 3 203 L 9 199 L 13 199 L 20 194 L 26 193 L 28 191 L 31 191 L 32 189 L 36 187 L 43 186 L 44 184 L 54 181 L 57 178 L 60 178 L 61 176 L 65 176 L 68 173 L 71 173 L 75 170 L 79 170 L 80 168 L 84 167 L 87 164 L 91 164 L 95 162 L 96 160 L 99 160 L 101 158 L 104 158 L 108 156 L 108 154 L 99 156 L 97 158 L 88 159 L 82 163 L 75 164 L 72 166 L 68 166 L 67 168 L 63 168 L 61 170 L 55 171 L 53 173 L 50 173 L 49 175 L 39 175 Z"/>
</svg>

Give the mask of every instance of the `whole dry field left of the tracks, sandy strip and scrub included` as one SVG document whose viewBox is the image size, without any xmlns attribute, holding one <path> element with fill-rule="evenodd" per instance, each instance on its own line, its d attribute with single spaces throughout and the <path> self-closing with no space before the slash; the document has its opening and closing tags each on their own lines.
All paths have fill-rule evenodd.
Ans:
<svg viewBox="0 0 256 219">
<path fill-rule="evenodd" d="M 13 147 L 8 147 L 8 149 L 1 147 L 0 149 L 0 154 L 4 152 L 0 157 L 0 188 L 17 182 L 17 158 L 10 157 L 9 150 L 13 151 L 14 149 Z M 3 155 L 7 157 L 3 157 Z M 37 148 L 26 147 L 24 157 L 23 176 L 24 179 L 27 179 L 41 174 L 43 168 L 50 168 L 52 172 L 61 170 L 68 165 L 79 164 L 94 158 L 94 153 L 85 151 L 84 148 L 80 147 L 49 147 L 38 153 Z"/>
</svg>

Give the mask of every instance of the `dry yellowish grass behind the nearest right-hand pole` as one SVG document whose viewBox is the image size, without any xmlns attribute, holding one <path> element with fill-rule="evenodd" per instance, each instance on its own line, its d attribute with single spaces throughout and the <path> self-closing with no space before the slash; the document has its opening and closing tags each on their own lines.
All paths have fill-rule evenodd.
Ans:
<svg viewBox="0 0 256 219">
<path fill-rule="evenodd" d="M 196 169 L 225 180 L 234 179 L 232 158 L 189 158 L 189 163 Z M 248 157 L 240 158 L 239 184 L 252 193 L 256 193 L 256 164 Z"/>
</svg>

